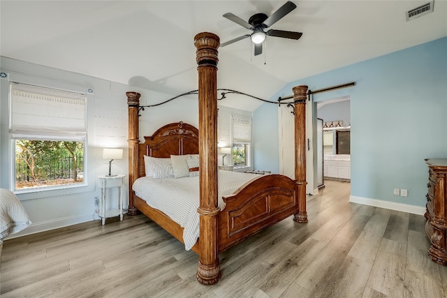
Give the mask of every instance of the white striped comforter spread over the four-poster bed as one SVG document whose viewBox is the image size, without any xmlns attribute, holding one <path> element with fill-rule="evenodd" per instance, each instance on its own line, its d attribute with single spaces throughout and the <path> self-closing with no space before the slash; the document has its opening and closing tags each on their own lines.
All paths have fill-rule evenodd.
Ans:
<svg viewBox="0 0 447 298">
<path fill-rule="evenodd" d="M 229 172 L 219 170 L 218 198 L 219 208 L 223 210 L 225 203 L 223 195 L 234 193 L 247 181 L 262 177 L 258 174 Z M 178 223 L 183 231 L 183 241 L 186 251 L 196 244 L 199 236 L 199 177 L 154 179 L 140 177 L 132 186 L 135 194 L 149 206 L 163 211 L 173 221 Z"/>
</svg>

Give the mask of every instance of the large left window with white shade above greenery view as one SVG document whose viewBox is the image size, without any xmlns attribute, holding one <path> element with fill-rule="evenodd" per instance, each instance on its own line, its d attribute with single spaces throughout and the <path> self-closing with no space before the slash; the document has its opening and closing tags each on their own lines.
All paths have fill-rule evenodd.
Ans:
<svg viewBox="0 0 447 298">
<path fill-rule="evenodd" d="M 83 184 L 85 94 L 12 82 L 15 190 Z"/>
</svg>

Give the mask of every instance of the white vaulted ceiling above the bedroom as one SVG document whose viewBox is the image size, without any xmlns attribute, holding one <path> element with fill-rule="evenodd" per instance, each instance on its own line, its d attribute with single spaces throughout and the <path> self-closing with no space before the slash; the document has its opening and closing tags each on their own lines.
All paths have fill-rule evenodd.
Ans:
<svg viewBox="0 0 447 298">
<path fill-rule="evenodd" d="M 250 33 L 224 13 L 248 21 L 285 2 L 2 0 L 0 54 L 175 96 L 197 89 L 196 33 L 223 43 Z M 268 36 L 256 57 L 249 38 L 219 48 L 219 88 L 270 98 L 288 82 L 447 36 L 446 0 L 410 22 L 406 11 L 429 1 L 293 2 L 271 28 L 302 38 Z M 228 96 L 221 104 L 254 110 L 261 102 Z"/>
</svg>

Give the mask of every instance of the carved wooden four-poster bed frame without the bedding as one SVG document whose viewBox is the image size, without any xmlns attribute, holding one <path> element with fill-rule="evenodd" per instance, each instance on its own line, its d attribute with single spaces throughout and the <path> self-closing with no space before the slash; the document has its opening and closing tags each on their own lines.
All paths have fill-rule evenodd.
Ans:
<svg viewBox="0 0 447 298">
<path fill-rule="evenodd" d="M 192 250 L 199 255 L 197 279 L 203 284 L 219 281 L 219 253 L 274 223 L 293 215 L 307 222 L 305 164 L 305 101 L 307 87 L 293 88 L 295 105 L 295 180 L 284 175 L 263 175 L 223 198 L 218 207 L 217 170 L 217 48 L 219 37 L 198 33 L 194 39 L 198 64 L 198 129 L 183 122 L 159 128 L 140 143 L 138 112 L 140 94 L 126 92 L 129 105 L 129 215 L 143 214 L 184 242 L 183 228 L 135 195 L 132 185 L 145 176 L 144 156 L 199 155 L 200 236 Z M 172 198 L 174 200 L 175 198 Z"/>
</svg>

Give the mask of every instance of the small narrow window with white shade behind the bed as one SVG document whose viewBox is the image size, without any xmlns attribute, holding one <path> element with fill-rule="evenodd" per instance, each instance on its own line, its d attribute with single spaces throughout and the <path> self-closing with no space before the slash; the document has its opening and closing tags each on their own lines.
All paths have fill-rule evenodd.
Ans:
<svg viewBox="0 0 447 298">
<path fill-rule="evenodd" d="M 251 120 L 232 117 L 233 149 L 235 167 L 250 166 Z"/>
</svg>

